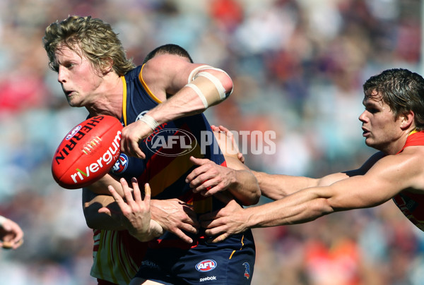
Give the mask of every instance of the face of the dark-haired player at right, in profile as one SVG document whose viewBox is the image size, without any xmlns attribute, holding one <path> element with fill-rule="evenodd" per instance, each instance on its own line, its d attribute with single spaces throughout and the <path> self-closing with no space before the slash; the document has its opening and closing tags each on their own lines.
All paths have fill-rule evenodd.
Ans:
<svg viewBox="0 0 424 285">
<path fill-rule="evenodd" d="M 393 111 L 384 103 L 381 96 L 365 97 L 365 111 L 359 116 L 362 122 L 365 144 L 376 150 L 390 153 L 396 142 L 402 137 L 402 117 L 395 119 Z"/>
</svg>

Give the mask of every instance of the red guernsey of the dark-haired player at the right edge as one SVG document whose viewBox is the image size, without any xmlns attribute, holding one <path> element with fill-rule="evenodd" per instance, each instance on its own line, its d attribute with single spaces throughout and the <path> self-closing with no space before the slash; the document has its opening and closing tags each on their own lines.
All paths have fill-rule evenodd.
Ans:
<svg viewBox="0 0 424 285">
<path fill-rule="evenodd" d="M 408 135 L 405 147 L 424 145 L 424 131 Z M 400 152 L 402 152 L 402 150 Z M 398 152 L 399 153 L 399 152 Z M 424 231 L 424 195 L 403 191 L 393 198 L 395 204 L 418 229 Z"/>
</svg>

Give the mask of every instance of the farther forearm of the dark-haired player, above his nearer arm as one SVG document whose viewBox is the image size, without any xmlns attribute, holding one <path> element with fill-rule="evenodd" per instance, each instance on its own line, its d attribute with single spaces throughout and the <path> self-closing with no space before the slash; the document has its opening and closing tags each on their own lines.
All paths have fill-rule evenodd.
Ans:
<svg viewBox="0 0 424 285">
<path fill-rule="evenodd" d="M 280 200 L 300 189 L 317 186 L 318 180 L 304 176 L 283 174 L 266 174 L 252 171 L 257 178 L 262 195 L 273 200 Z"/>
</svg>

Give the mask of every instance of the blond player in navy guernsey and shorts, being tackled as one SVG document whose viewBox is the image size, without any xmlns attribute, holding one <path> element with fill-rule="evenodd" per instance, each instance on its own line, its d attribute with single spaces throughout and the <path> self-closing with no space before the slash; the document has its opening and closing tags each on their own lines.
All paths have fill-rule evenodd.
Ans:
<svg viewBox="0 0 424 285">
<path fill-rule="evenodd" d="M 225 72 L 169 54 L 155 56 L 144 66 L 135 67 L 126 59 L 110 25 L 90 17 L 71 16 L 60 23 L 52 23 L 46 29 L 43 42 L 50 66 L 58 72 L 59 83 L 71 107 L 86 107 L 90 116 L 116 116 L 124 124 L 122 151 L 129 156 L 128 165 L 119 176 L 127 181 L 132 176 L 142 182 L 149 181 L 154 198 L 180 198 L 187 204 L 192 203 L 199 213 L 216 210 L 223 207 L 218 200 L 194 194 L 185 182 L 185 176 L 194 168 L 193 162 L 204 164 L 202 160 L 190 160 L 190 155 L 204 157 L 215 163 L 211 167 L 219 169 L 221 172 L 218 173 L 228 174 L 223 179 L 210 179 L 211 189 L 228 188 L 237 200 L 247 205 L 257 202 L 258 187 L 239 185 L 240 181 L 249 181 L 247 185 L 255 186 L 251 183 L 256 182 L 255 178 L 249 171 L 235 172 L 220 166 L 225 160 L 221 153 L 213 152 L 213 145 L 206 147 L 204 152 L 193 145 L 188 155 L 177 156 L 172 156 L 175 154 L 173 149 L 161 156 L 160 150 L 155 148 L 158 145 L 149 145 L 153 130 L 167 128 L 169 132 L 163 133 L 165 141 L 172 141 L 170 136 L 185 131 L 199 140 L 202 131 L 211 131 L 200 113 L 230 95 L 232 81 Z M 90 190 L 108 193 L 109 185 L 123 195 L 120 183 L 109 174 L 90 186 Z M 158 224 L 152 222 L 149 226 L 154 230 Z M 165 223 L 161 226 L 166 229 Z M 118 232 L 115 234 L 119 235 Z M 181 231 L 174 234 L 185 236 Z M 229 238 L 222 246 L 208 244 L 199 234 L 189 241 L 193 243 L 191 246 L 181 246 L 175 235 L 165 232 L 149 243 L 146 257 L 143 252 L 139 255 L 147 258 L 139 272 L 142 278 L 139 281 L 151 279 L 160 284 L 181 284 L 184 280 L 187 284 L 197 284 L 201 279 L 216 277 L 213 283 L 250 283 L 251 279 L 245 275 L 246 264 L 251 272 L 254 265 L 254 242 L 250 231 Z M 98 255 L 100 250 L 107 250 L 107 253 L 125 250 L 119 248 L 120 242 L 111 243 L 100 237 Z M 175 266 L 178 262 L 180 266 Z M 131 268 L 127 269 L 131 271 Z M 111 277 L 119 275 L 110 281 L 114 284 L 124 284 L 120 279 L 128 276 L 127 272 L 107 274 Z M 148 283 L 155 282 L 146 281 L 144 284 Z"/>
</svg>

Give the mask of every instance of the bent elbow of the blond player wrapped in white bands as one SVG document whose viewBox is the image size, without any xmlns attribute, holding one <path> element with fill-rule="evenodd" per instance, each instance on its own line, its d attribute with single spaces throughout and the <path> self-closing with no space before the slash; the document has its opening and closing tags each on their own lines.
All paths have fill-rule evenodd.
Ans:
<svg viewBox="0 0 424 285">
<path fill-rule="evenodd" d="M 199 66 L 194 68 L 194 70 L 190 73 L 188 84 L 185 85 L 185 87 L 190 87 L 194 90 L 194 92 L 196 92 L 201 99 L 201 102 L 203 102 L 205 109 L 213 104 L 223 101 L 232 93 L 232 89 L 230 92 L 225 92 L 225 88 L 220 80 L 208 71 L 204 71 L 206 69 L 213 69 L 215 71 L 225 73 L 225 71 L 220 68 Z"/>
</svg>

